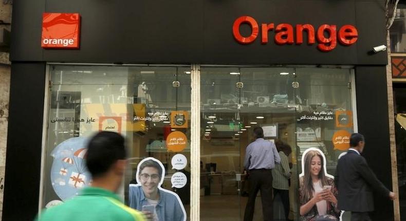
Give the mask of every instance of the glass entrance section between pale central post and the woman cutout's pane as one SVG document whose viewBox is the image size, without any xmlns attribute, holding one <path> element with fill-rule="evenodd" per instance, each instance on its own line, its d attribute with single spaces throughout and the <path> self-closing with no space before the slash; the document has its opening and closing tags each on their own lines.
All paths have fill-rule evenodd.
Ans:
<svg viewBox="0 0 406 221">
<path fill-rule="evenodd" d="M 200 141 L 200 219 L 244 220 L 250 184 L 244 169 L 253 128 L 264 139 L 289 147 L 292 177 L 298 177 L 293 68 L 202 67 Z M 293 86 L 292 86 L 293 85 Z M 290 219 L 298 218 L 298 180 L 286 183 Z M 280 196 L 274 197 L 274 220 L 284 220 Z M 253 220 L 263 220 L 259 192 Z"/>
</svg>

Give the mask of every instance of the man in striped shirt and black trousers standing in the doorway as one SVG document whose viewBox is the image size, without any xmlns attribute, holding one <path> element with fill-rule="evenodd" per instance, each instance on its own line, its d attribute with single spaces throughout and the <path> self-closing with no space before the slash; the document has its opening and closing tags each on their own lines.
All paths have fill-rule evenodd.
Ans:
<svg viewBox="0 0 406 221">
<path fill-rule="evenodd" d="M 244 167 L 249 171 L 249 194 L 245 208 L 244 221 L 252 221 L 255 207 L 255 197 L 261 190 L 262 213 L 264 220 L 273 220 L 272 205 L 272 172 L 275 163 L 281 163 L 281 158 L 275 144 L 264 140 L 261 127 L 254 128 L 254 142 L 247 146 Z"/>
</svg>

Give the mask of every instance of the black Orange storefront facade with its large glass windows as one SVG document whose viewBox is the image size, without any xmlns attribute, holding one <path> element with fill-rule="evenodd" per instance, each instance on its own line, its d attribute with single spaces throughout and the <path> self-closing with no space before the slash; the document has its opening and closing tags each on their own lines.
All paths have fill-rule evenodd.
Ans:
<svg viewBox="0 0 406 221">
<path fill-rule="evenodd" d="M 79 49 L 41 47 L 45 12 L 80 14 Z M 258 25 L 256 37 L 252 22 L 238 26 L 243 37 L 251 36 L 246 44 L 233 34 L 242 16 Z M 275 31 L 280 24 L 292 27 L 293 42 L 289 34 L 275 40 L 281 31 L 289 32 L 282 26 Z M 298 42 L 297 25 L 305 24 L 315 30 L 314 43 L 308 32 Z M 318 35 L 323 25 L 331 29 Z M 357 38 L 347 45 L 339 40 L 346 25 L 357 31 L 357 37 L 352 32 L 343 38 Z M 386 42 L 384 1 L 19 1 L 13 5 L 12 30 L 3 220 L 32 220 L 39 208 L 69 198 L 72 192 L 64 188 L 81 186 L 58 177 L 58 170 L 71 167 L 69 159 L 83 159 L 72 152 L 56 164 L 60 159 L 53 151 L 68 139 L 107 128 L 131 140 L 134 161 L 123 199 L 131 197 L 126 186 L 135 179 L 139 160 L 154 157 L 169 176 L 162 188 L 180 195 L 188 220 L 243 217 L 242 164 L 255 124 L 269 129 L 269 140 L 291 146 L 289 162 L 297 178 L 308 148 L 324 153 L 324 167 L 334 175 L 345 151 L 334 140 L 359 132 L 367 143 L 363 155 L 377 177 L 387 188 L 397 188 L 391 175 L 387 54 L 373 52 Z M 186 113 L 186 126 L 172 124 L 171 113 L 178 112 Z M 345 122 L 338 120 L 342 114 Z M 60 120 L 68 118 L 72 122 Z M 105 118 L 114 123 L 103 124 Z M 181 150 L 164 142 L 175 131 L 187 140 Z M 173 169 L 175 154 L 187 159 L 186 168 Z M 176 172 L 187 177 L 186 185 L 171 187 Z M 292 180 L 289 189 L 293 219 L 299 218 L 298 185 Z M 220 216 L 224 211 L 218 207 L 234 214 Z M 375 195 L 371 216 L 393 220 L 392 201 Z"/>
</svg>

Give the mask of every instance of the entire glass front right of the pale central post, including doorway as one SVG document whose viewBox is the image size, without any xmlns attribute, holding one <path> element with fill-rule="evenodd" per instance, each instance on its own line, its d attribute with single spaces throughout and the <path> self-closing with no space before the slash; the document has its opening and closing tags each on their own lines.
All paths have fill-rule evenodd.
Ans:
<svg viewBox="0 0 406 221">
<path fill-rule="evenodd" d="M 311 148 L 335 174 L 338 157 L 353 133 L 350 69 L 201 67 L 200 219 L 243 220 L 249 195 L 244 172 L 253 128 L 288 145 L 292 176 L 289 218 L 299 219 L 302 155 Z M 277 146 L 278 146 L 277 145 Z M 284 219 L 280 196 L 274 218 Z M 254 220 L 263 220 L 261 198 Z"/>
</svg>

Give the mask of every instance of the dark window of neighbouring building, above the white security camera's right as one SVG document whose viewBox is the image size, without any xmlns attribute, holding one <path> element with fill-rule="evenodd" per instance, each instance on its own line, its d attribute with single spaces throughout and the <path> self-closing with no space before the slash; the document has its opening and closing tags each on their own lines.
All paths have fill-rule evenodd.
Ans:
<svg viewBox="0 0 406 221">
<path fill-rule="evenodd" d="M 391 52 L 406 52 L 406 5 L 398 4 L 395 11 L 395 20 L 390 29 Z"/>
</svg>

